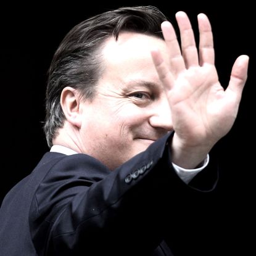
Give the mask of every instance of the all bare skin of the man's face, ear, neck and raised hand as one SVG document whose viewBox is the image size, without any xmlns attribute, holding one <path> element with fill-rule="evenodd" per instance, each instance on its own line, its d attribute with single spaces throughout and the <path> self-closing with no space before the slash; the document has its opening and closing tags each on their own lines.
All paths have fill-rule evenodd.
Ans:
<svg viewBox="0 0 256 256">
<path fill-rule="evenodd" d="M 187 15 L 176 13 L 181 49 L 169 22 L 165 40 L 123 32 L 102 48 L 104 73 L 97 95 L 84 101 L 73 88 L 62 91 L 66 120 L 53 144 L 99 159 L 114 170 L 168 132 L 173 163 L 195 168 L 231 129 L 246 83 L 249 57 L 239 56 L 226 90 L 214 65 L 210 22 L 198 15 L 197 51 Z"/>
</svg>

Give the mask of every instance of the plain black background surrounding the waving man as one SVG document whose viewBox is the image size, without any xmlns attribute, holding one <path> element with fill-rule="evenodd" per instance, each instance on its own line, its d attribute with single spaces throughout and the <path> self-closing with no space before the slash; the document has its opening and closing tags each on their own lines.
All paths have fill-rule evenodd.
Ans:
<svg viewBox="0 0 256 256">
<path fill-rule="evenodd" d="M 200 239 L 203 244 L 210 241 L 207 247 L 212 255 L 220 252 L 225 253 L 223 255 L 249 255 L 252 252 L 249 233 L 254 233 L 255 227 L 252 213 L 255 204 L 255 14 L 248 5 L 229 10 L 223 10 L 221 6 L 214 6 L 213 10 L 210 4 L 205 8 L 194 4 L 194 8 L 189 9 L 186 4 L 174 6 L 157 1 L 91 3 L 91 7 L 85 2 L 60 6 L 47 2 L 38 2 L 34 6 L 14 3 L 2 6 L 0 203 L 6 192 L 28 175 L 48 150 L 42 129 L 46 73 L 61 39 L 70 28 L 91 15 L 140 4 L 159 7 L 175 26 L 175 12 L 186 11 L 196 35 L 196 15 L 200 12 L 207 14 L 212 23 L 218 75 L 225 88 L 236 57 L 241 54 L 250 56 L 249 76 L 236 122 L 212 152 L 220 161 L 220 183 L 211 198 L 212 209 L 208 207 L 209 212 L 204 212 L 209 215 L 207 220 L 212 225 L 210 230 L 207 229 L 206 237 L 199 236 L 198 240 L 199 244 Z M 184 236 L 193 236 L 193 232 Z"/>
</svg>

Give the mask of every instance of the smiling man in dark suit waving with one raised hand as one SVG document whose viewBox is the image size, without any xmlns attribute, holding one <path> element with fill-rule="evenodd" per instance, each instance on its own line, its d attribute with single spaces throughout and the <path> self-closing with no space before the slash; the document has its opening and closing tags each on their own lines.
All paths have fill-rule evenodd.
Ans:
<svg viewBox="0 0 256 256">
<path fill-rule="evenodd" d="M 154 7 L 105 12 L 65 36 L 46 92 L 51 152 L 4 199 L 1 255 L 172 255 L 183 199 L 215 186 L 209 152 L 234 123 L 249 60 L 237 58 L 224 90 L 207 17 L 199 52 L 187 15 L 176 20 L 181 49 Z"/>
</svg>

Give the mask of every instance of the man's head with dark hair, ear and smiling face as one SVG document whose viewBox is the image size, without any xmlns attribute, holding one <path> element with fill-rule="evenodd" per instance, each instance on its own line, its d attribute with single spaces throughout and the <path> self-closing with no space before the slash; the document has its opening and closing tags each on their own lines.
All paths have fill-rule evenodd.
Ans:
<svg viewBox="0 0 256 256">
<path fill-rule="evenodd" d="M 67 34 L 49 68 L 49 146 L 53 140 L 115 168 L 171 130 L 150 52 L 157 47 L 167 56 L 164 20 L 154 7 L 123 7 Z"/>
</svg>

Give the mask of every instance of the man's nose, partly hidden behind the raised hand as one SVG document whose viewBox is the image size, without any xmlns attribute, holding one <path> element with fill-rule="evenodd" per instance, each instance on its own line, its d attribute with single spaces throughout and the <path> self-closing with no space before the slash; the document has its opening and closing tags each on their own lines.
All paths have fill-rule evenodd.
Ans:
<svg viewBox="0 0 256 256">
<path fill-rule="evenodd" d="M 152 106 L 153 107 L 153 106 Z M 166 131 L 173 130 L 173 122 L 171 120 L 171 109 L 167 98 L 155 102 L 149 123 L 154 128 L 162 128 Z"/>
</svg>

